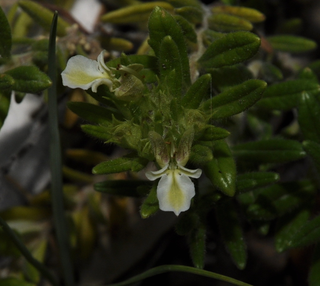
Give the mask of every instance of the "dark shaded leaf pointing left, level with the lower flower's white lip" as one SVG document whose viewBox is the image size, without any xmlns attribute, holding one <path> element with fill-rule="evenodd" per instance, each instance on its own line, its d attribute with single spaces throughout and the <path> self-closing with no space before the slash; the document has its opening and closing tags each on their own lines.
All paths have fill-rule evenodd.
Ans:
<svg viewBox="0 0 320 286">
<path fill-rule="evenodd" d="M 120 195 L 129 197 L 140 197 L 137 188 L 140 186 L 150 186 L 151 183 L 142 180 L 108 180 L 94 184 L 94 189 L 100 193 L 109 195 Z"/>
</svg>

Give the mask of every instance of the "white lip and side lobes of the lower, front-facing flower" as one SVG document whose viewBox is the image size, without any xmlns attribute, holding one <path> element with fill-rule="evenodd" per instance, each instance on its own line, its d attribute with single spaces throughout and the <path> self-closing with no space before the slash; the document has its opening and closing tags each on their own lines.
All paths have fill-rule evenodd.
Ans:
<svg viewBox="0 0 320 286">
<path fill-rule="evenodd" d="M 195 195 L 195 186 L 189 177 L 199 178 L 201 173 L 200 169 L 190 170 L 179 163 L 167 163 L 159 171 L 146 172 L 151 181 L 161 178 L 157 187 L 160 210 L 173 211 L 177 216 L 187 211 Z"/>
</svg>

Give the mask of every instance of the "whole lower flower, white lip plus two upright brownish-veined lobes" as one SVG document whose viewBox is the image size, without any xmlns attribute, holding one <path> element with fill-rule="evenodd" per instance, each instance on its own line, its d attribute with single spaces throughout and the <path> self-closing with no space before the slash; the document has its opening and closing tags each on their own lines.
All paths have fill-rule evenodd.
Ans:
<svg viewBox="0 0 320 286">
<path fill-rule="evenodd" d="M 161 178 L 157 187 L 159 208 L 162 211 L 173 211 L 178 216 L 181 211 L 190 208 L 191 199 L 195 195 L 195 186 L 190 178 L 199 178 L 202 173 L 200 169 L 190 170 L 184 167 L 190 155 L 193 132 L 185 132 L 177 152 L 172 143 L 170 159 L 162 137 L 156 132 L 150 132 L 149 138 L 156 161 L 162 169 L 148 171 L 146 177 L 152 181 Z"/>
</svg>

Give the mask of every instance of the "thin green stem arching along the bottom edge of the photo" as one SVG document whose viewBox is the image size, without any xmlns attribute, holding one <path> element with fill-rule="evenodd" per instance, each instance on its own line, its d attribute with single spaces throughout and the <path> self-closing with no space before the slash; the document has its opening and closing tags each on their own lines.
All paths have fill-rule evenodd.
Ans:
<svg viewBox="0 0 320 286">
<path fill-rule="evenodd" d="M 205 277 L 209 277 L 209 278 L 214 278 L 214 279 L 218 279 L 221 281 L 226 281 L 229 282 L 231 284 L 234 285 L 238 285 L 238 286 L 252 286 L 248 283 L 244 283 L 241 282 L 239 280 L 236 280 L 234 278 L 225 276 L 225 275 L 221 275 L 218 273 L 214 273 L 214 272 L 210 272 L 207 270 L 203 270 L 203 269 L 198 269 L 195 267 L 190 267 L 190 266 L 184 266 L 184 265 L 161 265 L 161 266 L 157 266 L 154 268 L 151 268 L 139 275 L 136 275 L 132 278 L 129 278 L 123 282 L 119 282 L 119 283 L 114 283 L 114 284 L 109 284 L 108 286 L 124 286 L 124 285 L 129 285 L 135 282 L 139 282 L 143 279 L 146 279 L 148 277 L 157 275 L 157 274 L 161 274 L 161 273 L 165 273 L 165 272 L 169 272 L 169 271 L 177 271 L 177 272 L 188 272 L 191 274 L 196 274 L 196 275 L 201 275 L 201 276 L 205 276 Z"/>
</svg>

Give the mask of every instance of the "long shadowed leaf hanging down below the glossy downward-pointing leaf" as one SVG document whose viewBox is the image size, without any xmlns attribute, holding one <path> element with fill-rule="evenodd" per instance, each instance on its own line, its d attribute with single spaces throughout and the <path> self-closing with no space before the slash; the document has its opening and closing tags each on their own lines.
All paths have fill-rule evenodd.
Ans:
<svg viewBox="0 0 320 286">
<path fill-rule="evenodd" d="M 231 200 L 217 203 L 216 217 L 223 242 L 239 269 L 244 269 L 247 262 L 246 244 L 238 214 Z"/>
</svg>

